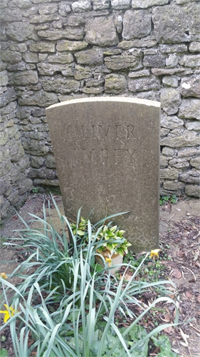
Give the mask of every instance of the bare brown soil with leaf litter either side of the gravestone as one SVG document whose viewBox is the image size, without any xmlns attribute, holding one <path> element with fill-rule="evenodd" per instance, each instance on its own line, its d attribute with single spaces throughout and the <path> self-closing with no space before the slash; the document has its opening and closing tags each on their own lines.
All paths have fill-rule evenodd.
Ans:
<svg viewBox="0 0 200 357">
<path fill-rule="evenodd" d="M 48 199 L 49 195 L 46 194 L 30 195 L 19 214 L 26 222 L 32 219 L 28 213 L 42 217 L 43 202 L 46 201 L 47 203 Z M 55 196 L 55 199 L 60 212 L 64 213 L 62 198 Z M 60 226 L 57 216 L 56 209 L 52 207 L 51 220 L 59 231 Z M 3 246 L 2 242 L 8 241 L 9 237 L 17 236 L 18 233 L 14 232 L 14 230 L 21 228 L 23 228 L 23 223 L 16 215 L 1 229 L 0 272 L 11 273 L 20 259 L 19 256 L 14 256 L 13 251 L 8 246 Z M 165 277 L 170 278 L 177 286 L 180 321 L 194 318 L 190 323 L 180 325 L 175 330 L 169 328 L 168 331 L 165 331 L 170 338 L 174 351 L 180 357 L 200 357 L 199 243 L 200 200 L 179 199 L 175 204 L 167 203 L 164 206 L 160 206 L 160 248 L 170 258 L 167 261 L 162 261 L 162 258 L 160 258 L 160 261 L 166 266 L 165 273 L 167 276 Z M 9 261 L 14 261 L 14 263 Z M 12 283 L 15 282 L 15 278 L 13 278 Z"/>
</svg>

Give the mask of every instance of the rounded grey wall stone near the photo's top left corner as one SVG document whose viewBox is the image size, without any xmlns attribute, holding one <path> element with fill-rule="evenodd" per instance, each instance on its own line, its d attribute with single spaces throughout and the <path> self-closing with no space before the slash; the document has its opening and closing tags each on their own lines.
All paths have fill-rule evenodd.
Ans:
<svg viewBox="0 0 200 357">
<path fill-rule="evenodd" d="M 26 41 L 32 39 L 37 41 L 38 36 L 34 31 L 34 26 L 28 22 L 12 22 L 7 27 L 7 35 L 14 41 Z"/>
</svg>

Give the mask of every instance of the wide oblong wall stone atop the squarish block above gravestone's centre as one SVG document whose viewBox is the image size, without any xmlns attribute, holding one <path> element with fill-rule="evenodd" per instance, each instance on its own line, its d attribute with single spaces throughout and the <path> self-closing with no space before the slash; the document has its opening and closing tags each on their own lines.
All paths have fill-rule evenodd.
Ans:
<svg viewBox="0 0 200 357">
<path fill-rule="evenodd" d="M 134 69 L 140 65 L 140 56 L 110 56 L 105 57 L 105 66 L 107 69 Z"/>
</svg>

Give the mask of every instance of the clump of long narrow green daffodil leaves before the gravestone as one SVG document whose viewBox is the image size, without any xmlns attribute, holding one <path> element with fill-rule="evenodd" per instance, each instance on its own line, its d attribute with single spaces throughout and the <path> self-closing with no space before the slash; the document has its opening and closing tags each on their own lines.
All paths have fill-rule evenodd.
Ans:
<svg viewBox="0 0 200 357">
<path fill-rule="evenodd" d="M 19 232 L 18 243 L 14 242 L 16 238 L 11 243 L 16 249 L 26 249 L 27 254 L 26 260 L 11 274 L 21 278 L 21 283 L 14 286 L 9 279 L 0 276 L 3 287 L 1 306 L 6 302 L 14 311 L 0 331 L 10 326 L 16 357 L 147 357 L 149 338 L 172 324 L 164 323 L 147 332 L 140 323 L 157 304 L 172 303 L 176 311 L 174 326 L 177 326 L 177 302 L 169 297 L 172 288 L 167 290 L 169 285 L 175 288 L 174 283 L 147 283 L 137 279 L 149 253 L 137 268 L 130 263 L 123 264 L 125 271 L 120 281 L 111 275 L 106 263 L 98 271 L 95 254 L 102 244 L 98 237 L 105 220 L 98 223 L 95 233 L 87 221 L 88 238 L 85 243 L 85 234 L 81 238 L 78 231 L 73 233 L 68 219 L 60 215 L 57 206 L 56 209 L 63 223 L 62 233 L 47 223 L 43 206 L 43 218 L 31 215 L 40 227 L 42 223 L 43 228 L 31 228 L 23 221 L 26 228 Z M 77 226 L 79 222 L 80 210 Z M 73 244 L 68 242 L 66 228 Z M 117 233 L 117 228 L 110 231 Z M 125 276 L 130 268 L 132 276 L 126 282 Z M 140 297 L 153 289 L 159 291 L 161 297 L 147 306 Z M 135 315 L 132 306 L 142 312 Z M 120 313 L 125 321 L 131 319 L 128 327 L 117 327 L 116 313 Z"/>
</svg>

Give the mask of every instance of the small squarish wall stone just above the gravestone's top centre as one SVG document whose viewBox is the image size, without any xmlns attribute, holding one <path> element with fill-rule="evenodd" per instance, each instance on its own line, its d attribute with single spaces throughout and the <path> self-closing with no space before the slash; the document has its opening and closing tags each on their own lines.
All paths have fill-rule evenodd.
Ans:
<svg viewBox="0 0 200 357">
<path fill-rule="evenodd" d="M 127 80 L 123 74 L 108 74 L 105 76 L 105 93 L 119 94 L 125 91 Z"/>
</svg>

